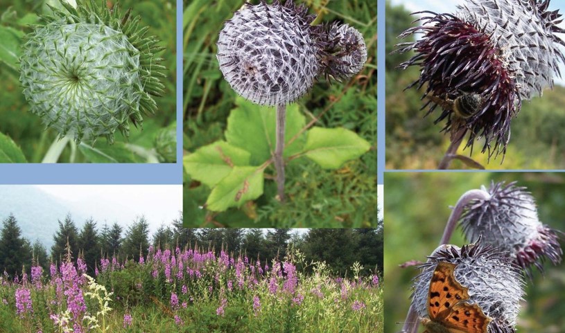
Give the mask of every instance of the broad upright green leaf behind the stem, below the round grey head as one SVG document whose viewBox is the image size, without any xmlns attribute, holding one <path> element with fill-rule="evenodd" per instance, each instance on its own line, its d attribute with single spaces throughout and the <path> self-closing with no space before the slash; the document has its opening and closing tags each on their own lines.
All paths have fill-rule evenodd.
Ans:
<svg viewBox="0 0 565 333">
<path fill-rule="evenodd" d="M 228 143 L 251 153 L 251 164 L 261 165 L 271 158 L 275 151 L 276 109 L 260 107 L 238 97 L 238 107 L 232 109 L 227 118 L 225 138 Z M 300 114 L 298 105 L 286 108 L 285 143 L 306 125 L 306 118 Z M 300 152 L 304 145 L 304 134 L 285 148 L 284 156 Z"/>
</svg>

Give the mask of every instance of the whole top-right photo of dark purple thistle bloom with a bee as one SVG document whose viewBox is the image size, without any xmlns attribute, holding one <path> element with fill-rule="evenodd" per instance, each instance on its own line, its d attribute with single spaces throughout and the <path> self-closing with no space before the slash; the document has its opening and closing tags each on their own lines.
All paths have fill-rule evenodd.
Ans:
<svg viewBox="0 0 565 333">
<path fill-rule="evenodd" d="M 387 0 L 385 168 L 564 169 L 564 10 Z"/>
</svg>

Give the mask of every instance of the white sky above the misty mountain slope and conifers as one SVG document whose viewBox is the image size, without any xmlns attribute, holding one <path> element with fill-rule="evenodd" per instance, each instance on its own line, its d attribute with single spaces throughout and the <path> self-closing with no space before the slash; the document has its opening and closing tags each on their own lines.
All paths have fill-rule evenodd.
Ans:
<svg viewBox="0 0 565 333">
<path fill-rule="evenodd" d="M 182 211 L 180 185 L 35 185 L 40 190 L 80 207 L 82 215 L 98 222 L 130 223 L 144 215 L 155 228 L 171 224 Z M 152 228 L 152 229 L 153 229 Z"/>
</svg>

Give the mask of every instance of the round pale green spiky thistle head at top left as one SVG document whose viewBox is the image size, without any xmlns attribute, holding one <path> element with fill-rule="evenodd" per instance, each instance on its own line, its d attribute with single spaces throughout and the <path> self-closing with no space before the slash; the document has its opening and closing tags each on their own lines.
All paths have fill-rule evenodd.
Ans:
<svg viewBox="0 0 565 333">
<path fill-rule="evenodd" d="M 31 111 L 61 136 L 77 143 L 105 136 L 114 142 L 119 129 L 129 136 L 129 120 L 137 127 L 142 114 L 153 114 L 161 96 L 164 66 L 156 53 L 156 37 L 139 17 L 122 15 L 106 1 L 77 1 L 73 8 L 51 7 L 44 24 L 26 36 L 19 80 Z"/>
</svg>

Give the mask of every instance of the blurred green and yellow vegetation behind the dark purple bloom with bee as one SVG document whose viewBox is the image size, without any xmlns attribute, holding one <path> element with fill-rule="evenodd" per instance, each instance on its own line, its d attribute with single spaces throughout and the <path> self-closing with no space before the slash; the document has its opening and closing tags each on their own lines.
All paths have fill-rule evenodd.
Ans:
<svg viewBox="0 0 565 333">
<path fill-rule="evenodd" d="M 395 69 L 413 53 L 390 54 L 394 45 L 409 40 L 397 39 L 416 17 L 402 6 L 386 2 L 386 168 L 388 169 L 435 169 L 449 146 L 449 136 L 440 133 L 444 123 L 434 125 L 439 111 L 424 118 L 426 110 L 420 110 L 420 98 L 424 89 L 403 91 L 417 80 L 419 68 L 412 66 L 405 71 Z M 565 88 L 555 86 L 546 89 L 544 96 L 523 101 L 517 118 L 512 120 L 512 138 L 507 154 L 487 161 L 480 154 L 482 142 L 477 142 L 471 158 L 487 169 L 562 169 L 565 167 Z M 459 154 L 469 156 L 470 150 Z M 503 163 L 502 163 L 503 162 Z M 466 169 L 460 161 L 453 161 L 453 169 Z"/>
</svg>

